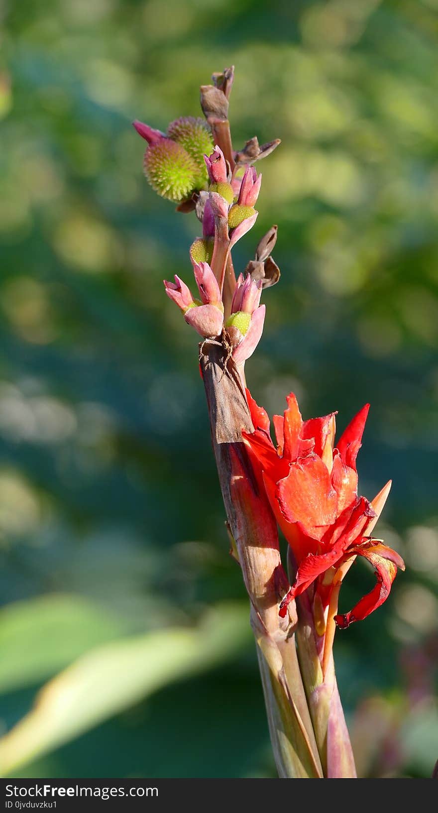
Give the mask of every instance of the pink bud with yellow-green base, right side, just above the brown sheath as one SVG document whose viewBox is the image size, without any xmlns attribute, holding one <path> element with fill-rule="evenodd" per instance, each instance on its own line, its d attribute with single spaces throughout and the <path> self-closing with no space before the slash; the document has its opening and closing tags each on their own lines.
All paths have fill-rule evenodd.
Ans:
<svg viewBox="0 0 438 813">
<path fill-rule="evenodd" d="M 249 359 L 262 337 L 266 306 L 260 305 L 261 296 L 262 282 L 252 280 L 249 274 L 244 281 L 240 274 L 232 298 L 232 313 L 225 324 L 236 364 Z"/>
</svg>

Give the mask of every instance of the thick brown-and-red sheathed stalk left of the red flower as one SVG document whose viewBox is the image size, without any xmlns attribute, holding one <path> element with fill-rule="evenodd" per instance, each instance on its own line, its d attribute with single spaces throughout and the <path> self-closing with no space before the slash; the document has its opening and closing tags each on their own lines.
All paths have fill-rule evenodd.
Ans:
<svg viewBox="0 0 438 813">
<path fill-rule="evenodd" d="M 242 441 L 242 430 L 254 427 L 232 361 L 228 375 L 223 375 L 225 353 L 223 346 L 206 341 L 200 347 L 200 364 L 223 502 L 251 604 L 275 762 L 284 778 L 320 778 L 323 771 L 293 637 L 294 605 L 288 606 L 286 619 L 278 613 L 288 579 L 275 519 Z"/>
</svg>

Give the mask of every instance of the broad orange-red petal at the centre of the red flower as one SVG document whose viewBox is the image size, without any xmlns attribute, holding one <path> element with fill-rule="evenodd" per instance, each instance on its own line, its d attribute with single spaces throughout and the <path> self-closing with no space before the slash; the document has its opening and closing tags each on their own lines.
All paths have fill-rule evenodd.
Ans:
<svg viewBox="0 0 438 813">
<path fill-rule="evenodd" d="M 304 533 L 320 539 L 336 520 L 336 492 L 327 467 L 315 454 L 291 463 L 277 485 L 280 511 L 288 522 L 299 522 Z"/>
</svg>

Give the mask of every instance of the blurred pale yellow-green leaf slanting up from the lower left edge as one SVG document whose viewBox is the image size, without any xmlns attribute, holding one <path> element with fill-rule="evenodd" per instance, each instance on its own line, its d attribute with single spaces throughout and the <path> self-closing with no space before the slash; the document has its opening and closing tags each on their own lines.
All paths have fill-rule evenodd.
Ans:
<svg viewBox="0 0 438 813">
<path fill-rule="evenodd" d="M 198 628 L 161 629 L 83 655 L 41 689 L 33 710 L 2 737 L 2 776 L 173 680 L 231 658 L 249 638 L 247 607 L 228 604 L 208 611 Z"/>
</svg>

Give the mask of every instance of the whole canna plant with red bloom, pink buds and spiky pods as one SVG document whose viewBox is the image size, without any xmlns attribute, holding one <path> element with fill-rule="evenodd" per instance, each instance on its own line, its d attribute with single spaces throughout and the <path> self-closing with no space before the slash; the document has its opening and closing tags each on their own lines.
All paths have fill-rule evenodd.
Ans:
<svg viewBox="0 0 438 813">
<path fill-rule="evenodd" d="M 254 163 L 280 144 L 256 137 L 233 150 L 228 102 L 233 68 L 201 88 L 205 120 L 184 117 L 167 133 L 134 122 L 147 141 L 150 185 L 194 211 L 202 236 L 189 257 L 198 298 L 183 280 L 165 280 L 167 296 L 202 342 L 199 363 L 211 437 L 227 512 L 232 554 L 249 594 L 267 718 L 282 777 L 356 776 L 336 685 L 336 626 L 365 619 L 386 598 L 397 568 L 395 550 L 372 536 L 391 483 L 369 502 L 358 496 L 356 459 L 368 405 L 335 441 L 336 413 L 303 421 L 290 393 L 284 416 L 270 420 L 245 386 L 245 360 L 262 337 L 264 289 L 280 270 L 272 259 L 277 228 L 258 241 L 236 279 L 232 247 L 253 228 L 262 176 Z M 288 541 L 288 576 L 278 527 Z M 375 569 L 375 587 L 353 610 L 338 613 L 340 585 L 357 556 Z"/>
</svg>

